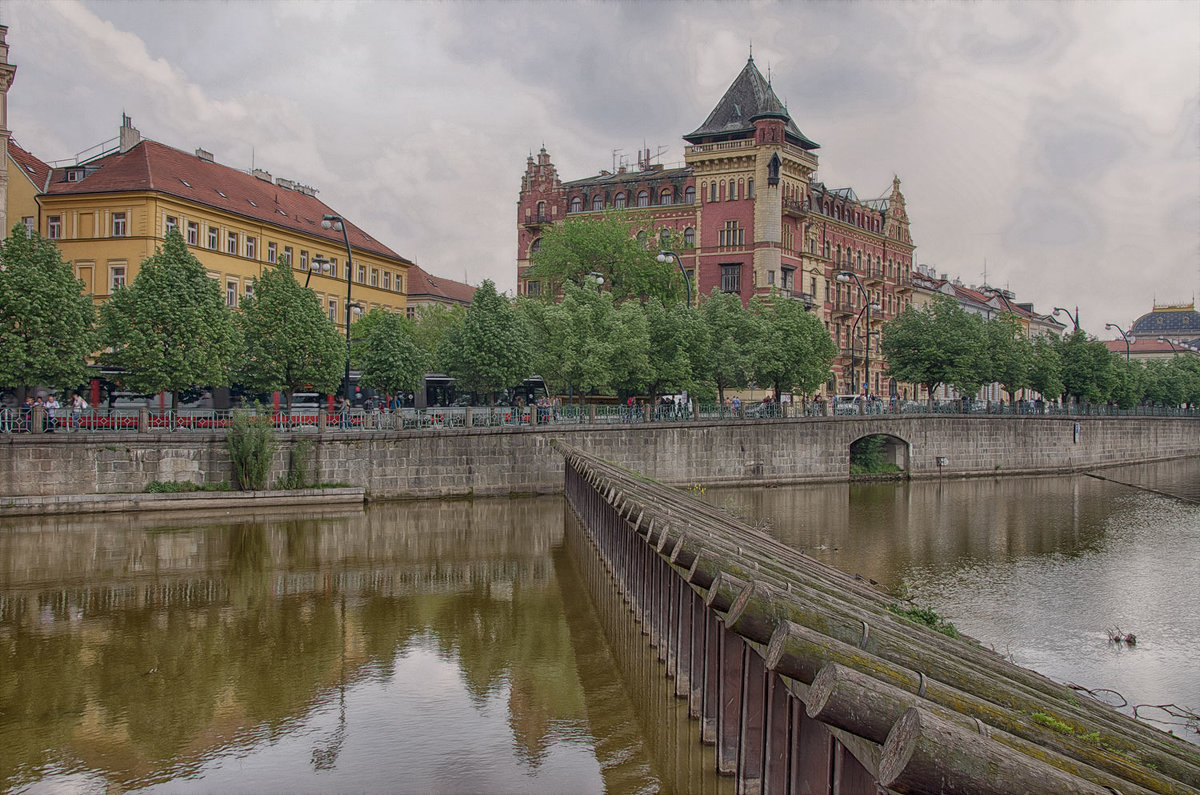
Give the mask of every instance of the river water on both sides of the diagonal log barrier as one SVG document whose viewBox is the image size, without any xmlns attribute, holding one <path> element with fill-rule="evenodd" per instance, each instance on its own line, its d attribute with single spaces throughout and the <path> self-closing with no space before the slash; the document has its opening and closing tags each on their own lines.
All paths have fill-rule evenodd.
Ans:
<svg viewBox="0 0 1200 795">
<path fill-rule="evenodd" d="M 1100 474 L 703 498 L 1195 710 L 1200 506 L 1114 480 L 1200 500 L 1200 460 Z M 569 527 L 562 497 L 0 521 L 0 789 L 731 793 Z"/>
</svg>

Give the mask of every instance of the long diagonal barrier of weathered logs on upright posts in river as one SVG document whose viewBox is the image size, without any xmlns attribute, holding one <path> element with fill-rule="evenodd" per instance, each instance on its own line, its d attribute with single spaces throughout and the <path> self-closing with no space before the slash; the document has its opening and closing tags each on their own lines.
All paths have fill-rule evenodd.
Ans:
<svg viewBox="0 0 1200 795">
<path fill-rule="evenodd" d="M 866 581 L 685 491 L 553 444 L 572 510 L 739 793 L 1200 793 L 1195 746 L 901 618 Z"/>
</svg>

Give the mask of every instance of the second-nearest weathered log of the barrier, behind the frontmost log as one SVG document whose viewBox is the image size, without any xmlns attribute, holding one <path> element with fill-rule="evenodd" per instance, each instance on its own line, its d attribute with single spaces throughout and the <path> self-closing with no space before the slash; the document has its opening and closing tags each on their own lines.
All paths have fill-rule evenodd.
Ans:
<svg viewBox="0 0 1200 795">
<path fill-rule="evenodd" d="M 968 731 L 977 731 L 978 718 L 971 718 L 962 712 L 942 706 L 932 700 L 923 699 L 916 693 L 881 682 L 868 674 L 857 671 L 838 663 L 827 663 L 817 673 L 812 686 L 809 688 L 809 700 L 806 711 L 809 717 L 822 723 L 845 729 L 852 734 L 863 736 L 872 742 L 882 743 L 887 740 L 892 727 L 911 707 L 920 707 L 943 721 L 948 721 Z M 1013 716 L 1014 723 L 1024 723 L 1024 716 Z M 1036 727 L 1032 722 L 1027 727 Z M 1163 776 L 1147 771 L 1140 766 L 1123 759 L 1114 759 L 1111 754 L 1105 754 L 1105 759 L 1098 759 L 1100 754 L 1094 753 L 1096 748 L 1082 748 L 1085 760 L 1075 759 L 1069 753 L 1057 753 L 1050 747 L 1061 746 L 1052 737 L 1046 737 L 1046 729 L 1040 727 L 1030 729 L 1027 734 L 1040 735 L 1040 742 L 1032 742 L 1015 734 L 989 728 L 992 740 L 1008 746 L 1014 751 L 1044 761 L 1058 770 L 1063 770 L 1073 776 L 1086 781 L 1126 793 L 1183 793 L 1184 790 L 1175 782 Z M 1080 748 L 1076 745 L 1076 751 Z M 1100 765 L 1112 766 L 1117 770 L 1109 772 L 1100 770 L 1093 764 L 1099 760 Z M 1153 789 L 1147 789 L 1134 784 L 1134 781 L 1145 779 L 1153 783 Z"/>
</svg>

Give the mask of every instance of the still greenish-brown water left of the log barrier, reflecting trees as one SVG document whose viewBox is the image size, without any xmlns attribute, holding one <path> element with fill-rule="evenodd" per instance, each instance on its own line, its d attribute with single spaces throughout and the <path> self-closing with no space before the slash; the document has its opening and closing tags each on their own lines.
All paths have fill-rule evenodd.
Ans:
<svg viewBox="0 0 1200 795">
<path fill-rule="evenodd" d="M 672 789 L 563 512 L 0 524 L 0 789 Z"/>
</svg>

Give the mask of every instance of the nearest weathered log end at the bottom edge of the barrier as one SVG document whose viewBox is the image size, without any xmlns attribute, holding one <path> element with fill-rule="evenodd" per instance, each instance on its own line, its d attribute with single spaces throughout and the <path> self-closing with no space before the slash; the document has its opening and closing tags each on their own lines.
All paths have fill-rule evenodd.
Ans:
<svg viewBox="0 0 1200 795">
<path fill-rule="evenodd" d="M 917 707 L 883 743 L 880 783 L 899 793 L 944 795 L 1112 795 Z"/>
</svg>

